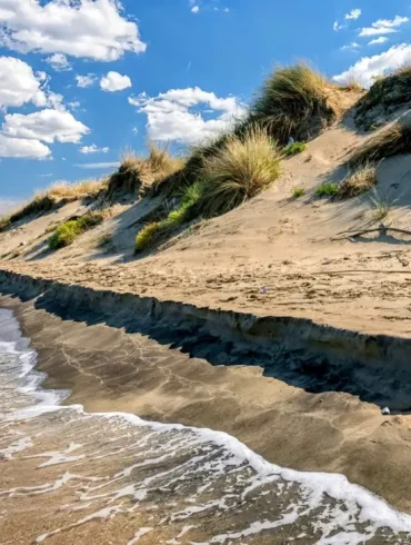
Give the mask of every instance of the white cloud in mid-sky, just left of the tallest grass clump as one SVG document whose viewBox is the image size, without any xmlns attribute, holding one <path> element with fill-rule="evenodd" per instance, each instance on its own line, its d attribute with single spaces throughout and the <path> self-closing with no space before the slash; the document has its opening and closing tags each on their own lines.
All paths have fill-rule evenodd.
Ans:
<svg viewBox="0 0 411 545">
<path fill-rule="evenodd" d="M 235 97 L 219 98 L 213 92 L 196 88 L 171 89 L 151 98 L 146 93 L 129 97 L 129 102 L 148 117 L 147 129 L 153 140 L 177 140 L 198 143 L 227 129 L 244 109 Z M 190 108 L 196 107 L 196 111 Z M 202 111 L 200 111 L 202 109 Z M 210 109 L 217 115 L 204 117 Z"/>
</svg>

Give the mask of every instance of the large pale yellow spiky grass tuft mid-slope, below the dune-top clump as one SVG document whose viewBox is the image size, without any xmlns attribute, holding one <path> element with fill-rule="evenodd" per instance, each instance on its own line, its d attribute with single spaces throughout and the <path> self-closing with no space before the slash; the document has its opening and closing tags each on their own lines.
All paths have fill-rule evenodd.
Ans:
<svg viewBox="0 0 411 545">
<path fill-rule="evenodd" d="M 213 217 L 254 197 L 279 178 L 280 159 L 275 142 L 261 128 L 229 137 L 215 155 L 204 159 L 198 210 Z"/>
</svg>

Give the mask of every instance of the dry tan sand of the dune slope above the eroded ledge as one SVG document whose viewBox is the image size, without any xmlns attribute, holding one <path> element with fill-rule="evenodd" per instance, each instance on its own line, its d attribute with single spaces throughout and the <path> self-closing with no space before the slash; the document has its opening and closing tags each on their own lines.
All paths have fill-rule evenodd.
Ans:
<svg viewBox="0 0 411 545">
<path fill-rule="evenodd" d="M 132 256 L 136 222 L 157 202 L 118 207 L 112 219 L 71 247 L 44 251 L 46 227 L 73 214 L 76 204 L 0 235 L 0 249 L 21 254 L 1 267 L 89 286 L 234 308 L 257 314 L 309 317 L 321 324 L 408 336 L 411 331 L 411 237 L 388 232 L 333 240 L 347 230 L 377 227 L 374 197 L 318 199 L 324 180 L 341 180 L 347 155 L 365 138 L 350 118 L 284 161 L 268 191 L 188 229 L 148 257 Z M 383 161 L 378 199 L 391 205 L 387 225 L 411 227 L 411 156 Z M 305 195 L 292 200 L 294 187 Z M 113 234 L 116 251 L 98 248 Z M 31 241 L 32 240 L 32 241 Z M 19 245 L 23 242 L 24 246 Z"/>
</svg>

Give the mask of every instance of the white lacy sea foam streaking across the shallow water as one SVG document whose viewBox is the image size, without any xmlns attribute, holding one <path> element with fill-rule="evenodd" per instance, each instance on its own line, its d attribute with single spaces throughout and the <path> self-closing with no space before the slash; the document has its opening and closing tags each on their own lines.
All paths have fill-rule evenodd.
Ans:
<svg viewBox="0 0 411 545">
<path fill-rule="evenodd" d="M 18 365 L 13 370 L 14 378 L 17 380 L 24 379 L 24 385 L 18 386 L 17 389 L 20 394 L 31 398 L 32 402 L 22 408 L 6 414 L 3 417 L 4 422 L 30 420 L 50 413 L 77 415 L 72 416 L 72 422 L 77 422 L 78 418 L 91 418 L 93 422 L 98 419 L 101 427 L 108 425 L 109 428 L 116 429 L 117 433 L 120 433 L 123 429 L 126 430 L 124 434 L 118 435 L 117 438 L 108 437 L 107 443 L 111 445 L 120 438 L 129 437 L 130 434 L 127 433 L 129 427 L 136 427 L 147 432 L 146 435 L 132 444 L 136 452 L 139 449 L 139 452 L 144 453 L 142 459 L 140 458 L 131 463 L 121 469 L 121 472 L 116 473 L 108 480 L 99 477 L 90 477 L 90 480 L 97 483 L 96 486 L 90 487 L 80 496 L 80 501 L 88 502 L 86 504 L 88 506 L 96 501 L 109 499 L 110 503 L 116 503 L 120 498 L 129 496 L 138 504 L 148 496 L 151 485 L 156 487 L 158 486 L 157 483 L 166 479 L 167 489 L 170 489 L 176 484 L 183 483 L 184 479 L 188 479 L 189 482 L 196 472 L 201 470 L 203 475 L 212 475 L 214 480 L 201 483 L 196 493 L 186 498 L 186 502 L 190 505 L 183 509 L 170 512 L 170 515 L 164 522 L 167 521 L 168 524 L 178 521 L 191 522 L 191 519 L 196 522 L 197 515 L 210 509 L 212 512 L 228 512 L 232 498 L 235 497 L 242 503 L 247 503 L 251 501 L 250 498 L 253 493 L 259 489 L 263 489 L 263 492 L 259 494 L 260 497 L 267 497 L 270 493 L 270 487 L 277 487 L 277 495 L 285 493 L 288 486 L 295 486 L 298 489 L 295 503 L 289 504 L 287 509 L 278 513 L 277 516 L 273 516 L 271 519 L 261 518 L 252 521 L 238 531 L 218 533 L 207 543 L 231 543 L 232 541 L 247 539 L 248 537 L 281 526 L 289 526 L 294 524 L 299 518 L 315 517 L 317 515 L 313 513 L 315 509 L 319 509 L 320 506 L 323 508 L 322 516 L 318 517 L 313 523 L 313 527 L 321 533 L 321 537 L 317 542 L 317 545 L 357 545 L 365 543 L 373 538 L 380 528 L 390 528 L 392 534 L 409 534 L 411 543 L 411 516 L 392 508 L 387 502 L 377 497 L 363 487 L 349 483 L 343 475 L 303 473 L 280 467 L 267 462 L 238 439 L 222 432 L 187 427 L 180 424 L 149 423 L 136 415 L 127 413 L 101 413 L 90 415 L 84 412 L 81 405 L 61 406 L 61 400 L 67 393 L 42 389 L 40 383 L 43 380 L 44 375 L 39 374 L 33 369 L 36 365 L 36 354 L 32 350 L 19 350 L 17 346 L 17 340 L 0 341 L 0 355 L 6 354 L 9 356 L 17 356 Z M 4 365 L 4 369 L 7 369 L 7 364 Z M 1 374 L 2 367 L 0 363 L 0 376 Z M 153 440 L 156 437 L 159 440 Z M 0 450 L 0 454 L 2 454 L 4 458 L 11 458 L 13 455 L 23 453 L 23 450 L 31 445 L 31 437 L 18 437 L 3 450 Z M 161 445 L 163 445 L 163 447 Z M 80 450 L 83 446 L 84 444 L 70 443 L 66 449 L 49 450 L 31 457 L 49 458 L 39 467 L 78 462 L 82 459 L 84 455 L 76 454 L 71 456 L 71 453 Z M 177 455 L 179 449 L 182 448 L 190 450 L 191 456 L 182 462 L 178 468 L 171 467 L 158 470 L 139 483 L 130 484 L 126 480 L 127 484 L 124 484 L 124 479 L 130 478 L 134 470 L 141 470 L 146 467 L 151 468 L 157 465 L 161 467 L 161 464 L 169 463 L 170 459 Z M 197 453 L 197 448 L 201 448 L 201 452 Z M 118 450 L 111 449 L 109 453 L 103 454 L 96 452 L 94 454 L 89 455 L 89 458 L 94 460 L 103 459 L 108 456 L 116 456 L 119 453 L 124 453 L 128 449 L 130 449 L 130 446 L 121 446 Z M 210 497 L 208 501 L 198 499 L 200 495 L 210 493 L 213 489 L 211 485 L 217 482 L 215 479 L 218 476 L 223 476 L 225 478 L 243 470 L 244 467 L 250 468 L 252 474 L 241 476 L 241 479 L 235 482 L 235 493 L 233 493 L 234 488 L 227 484 L 223 492 L 219 493 L 218 497 Z M 46 483 L 37 487 L 16 487 L 0 490 L 0 496 L 24 493 L 30 493 L 32 495 L 46 494 L 48 492 L 57 490 L 68 482 L 77 478 L 80 477 L 70 472 L 66 472 L 56 482 Z M 84 479 L 84 477 L 81 478 Z M 112 486 L 114 483 L 119 483 L 121 486 L 118 489 L 110 488 L 104 490 L 107 485 Z M 242 486 L 241 490 L 238 489 L 240 484 Z M 333 499 L 332 505 L 327 505 L 328 498 Z M 171 503 L 170 507 L 173 504 Z M 79 507 L 79 509 L 81 509 L 81 507 Z M 37 543 L 42 543 L 52 535 L 86 524 L 89 521 L 97 518 L 107 519 L 121 512 L 123 512 L 121 506 L 109 505 L 87 515 L 77 523 L 64 528 L 57 528 L 56 531 L 39 536 Z M 367 533 L 364 533 L 363 528 L 360 531 L 358 525 L 365 525 Z M 176 536 L 176 539 L 170 541 L 170 543 L 179 543 L 179 538 L 184 536 L 192 528 L 196 528 L 196 524 L 187 524 L 183 527 L 183 531 Z M 138 543 L 144 534 L 151 531 L 151 527 L 146 526 L 139 528 L 131 541 L 129 541 L 129 545 Z"/>
</svg>

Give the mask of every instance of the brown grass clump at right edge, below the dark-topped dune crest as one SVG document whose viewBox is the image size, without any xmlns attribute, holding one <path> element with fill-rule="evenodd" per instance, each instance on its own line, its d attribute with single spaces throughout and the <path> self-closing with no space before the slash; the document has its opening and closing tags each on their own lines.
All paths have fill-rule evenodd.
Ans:
<svg viewBox="0 0 411 545">
<path fill-rule="evenodd" d="M 411 152 L 411 125 L 397 122 L 370 138 L 353 152 L 349 164 L 364 166 L 378 162 L 387 157 Z"/>
</svg>

